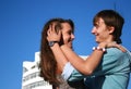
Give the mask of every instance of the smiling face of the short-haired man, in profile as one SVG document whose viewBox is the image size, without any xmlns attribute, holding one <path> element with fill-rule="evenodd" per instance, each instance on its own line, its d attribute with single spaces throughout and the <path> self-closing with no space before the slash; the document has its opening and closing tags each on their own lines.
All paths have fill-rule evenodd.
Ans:
<svg viewBox="0 0 131 89">
<path fill-rule="evenodd" d="M 110 33 L 103 18 L 99 18 L 95 23 L 92 29 L 92 34 L 96 36 L 96 42 L 98 43 L 104 41 L 110 41 Z"/>
</svg>

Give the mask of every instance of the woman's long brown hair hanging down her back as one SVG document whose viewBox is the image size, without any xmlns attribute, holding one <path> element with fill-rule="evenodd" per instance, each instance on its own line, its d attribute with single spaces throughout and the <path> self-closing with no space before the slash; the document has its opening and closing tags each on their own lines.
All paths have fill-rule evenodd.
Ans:
<svg viewBox="0 0 131 89">
<path fill-rule="evenodd" d="M 57 78 L 57 61 L 55 60 L 55 55 L 48 44 L 47 41 L 47 30 L 51 24 L 56 24 L 56 29 L 61 29 L 61 23 L 69 23 L 74 29 L 74 24 L 71 20 L 63 20 L 63 18 L 51 18 L 48 21 L 41 31 L 41 43 L 40 43 L 40 77 L 44 77 L 46 81 L 50 85 L 59 86 L 60 81 Z M 60 27 L 57 27 L 60 26 Z"/>
</svg>

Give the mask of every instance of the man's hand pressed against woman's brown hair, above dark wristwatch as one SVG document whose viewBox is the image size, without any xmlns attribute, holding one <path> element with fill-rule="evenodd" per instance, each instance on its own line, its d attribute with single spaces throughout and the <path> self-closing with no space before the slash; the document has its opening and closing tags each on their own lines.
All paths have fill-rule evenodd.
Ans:
<svg viewBox="0 0 131 89">
<path fill-rule="evenodd" d="M 47 31 L 47 40 L 48 41 L 60 41 L 61 39 L 61 30 L 59 29 L 58 31 L 55 30 L 56 24 L 52 24 L 49 26 L 49 29 Z M 58 33 L 58 34 L 57 34 Z"/>
</svg>

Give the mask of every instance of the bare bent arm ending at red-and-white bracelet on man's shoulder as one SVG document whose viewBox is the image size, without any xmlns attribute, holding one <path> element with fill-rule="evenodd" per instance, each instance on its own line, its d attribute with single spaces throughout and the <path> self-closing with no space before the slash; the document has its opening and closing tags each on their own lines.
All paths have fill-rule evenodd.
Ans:
<svg viewBox="0 0 131 89">
<path fill-rule="evenodd" d="M 87 58 L 87 60 L 82 60 L 78 54 L 75 54 L 66 44 L 61 47 L 64 55 L 71 62 L 71 64 L 82 74 L 91 75 L 96 66 L 99 64 L 104 51 L 94 50 L 93 53 Z"/>
</svg>

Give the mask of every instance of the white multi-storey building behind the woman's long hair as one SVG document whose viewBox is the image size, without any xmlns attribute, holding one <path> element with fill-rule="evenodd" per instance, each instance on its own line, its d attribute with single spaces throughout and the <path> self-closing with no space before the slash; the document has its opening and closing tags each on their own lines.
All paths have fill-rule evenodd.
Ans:
<svg viewBox="0 0 131 89">
<path fill-rule="evenodd" d="M 39 77 L 39 52 L 35 53 L 35 61 L 23 62 L 22 89 L 52 89 L 52 87 Z"/>
</svg>

